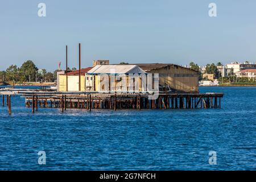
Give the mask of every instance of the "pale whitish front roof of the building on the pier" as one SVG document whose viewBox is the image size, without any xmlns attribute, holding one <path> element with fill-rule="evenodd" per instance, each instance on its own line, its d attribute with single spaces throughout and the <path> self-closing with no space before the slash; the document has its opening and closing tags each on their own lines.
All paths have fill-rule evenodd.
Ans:
<svg viewBox="0 0 256 182">
<path fill-rule="evenodd" d="M 112 73 L 112 72 L 117 74 L 146 73 L 145 71 L 143 71 L 143 69 L 141 69 L 137 65 L 130 65 L 130 64 L 96 65 L 94 68 L 88 71 L 89 74 Z"/>
</svg>

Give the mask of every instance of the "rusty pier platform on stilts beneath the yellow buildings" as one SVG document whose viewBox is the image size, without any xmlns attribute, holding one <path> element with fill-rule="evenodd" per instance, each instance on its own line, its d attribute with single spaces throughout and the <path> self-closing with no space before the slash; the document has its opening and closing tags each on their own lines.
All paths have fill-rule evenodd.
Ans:
<svg viewBox="0 0 256 182">
<path fill-rule="evenodd" d="M 11 96 L 25 98 L 32 113 L 39 108 L 67 109 L 218 109 L 223 93 L 159 93 L 151 100 L 150 93 L 44 92 L 40 90 L 1 91 L 2 106 L 11 115 Z M 6 96 L 6 97 L 5 97 Z"/>
</svg>

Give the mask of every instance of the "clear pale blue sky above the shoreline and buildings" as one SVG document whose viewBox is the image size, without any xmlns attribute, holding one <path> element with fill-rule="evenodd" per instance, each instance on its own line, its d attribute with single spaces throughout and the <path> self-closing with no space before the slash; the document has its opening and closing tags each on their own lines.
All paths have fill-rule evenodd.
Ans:
<svg viewBox="0 0 256 182">
<path fill-rule="evenodd" d="M 46 3 L 46 17 L 38 4 Z M 208 5 L 217 4 L 217 17 Z M 256 61 L 256 1 L 2 1 L 0 70 L 32 60 L 48 71 L 92 60 L 199 65 Z"/>
</svg>

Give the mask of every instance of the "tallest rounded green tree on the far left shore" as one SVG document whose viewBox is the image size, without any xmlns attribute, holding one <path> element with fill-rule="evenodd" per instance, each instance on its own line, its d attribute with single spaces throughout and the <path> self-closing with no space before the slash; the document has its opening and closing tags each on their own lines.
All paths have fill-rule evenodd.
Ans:
<svg viewBox="0 0 256 182">
<path fill-rule="evenodd" d="M 25 81 L 35 81 L 38 68 L 31 60 L 25 61 L 20 67 L 20 71 L 24 74 Z"/>
</svg>

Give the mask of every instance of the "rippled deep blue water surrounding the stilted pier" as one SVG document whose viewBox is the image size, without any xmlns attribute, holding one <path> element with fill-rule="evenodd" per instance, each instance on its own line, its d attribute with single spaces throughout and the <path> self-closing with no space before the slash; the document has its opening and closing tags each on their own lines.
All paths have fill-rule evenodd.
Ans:
<svg viewBox="0 0 256 182">
<path fill-rule="evenodd" d="M 0 169 L 256 170 L 256 88 L 200 92 L 223 92 L 222 109 L 31 114 L 15 96 L 13 115 L 0 106 Z M 42 150 L 46 165 L 38 164 Z M 216 165 L 209 151 L 217 152 Z"/>
</svg>

